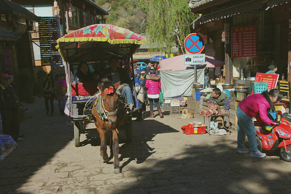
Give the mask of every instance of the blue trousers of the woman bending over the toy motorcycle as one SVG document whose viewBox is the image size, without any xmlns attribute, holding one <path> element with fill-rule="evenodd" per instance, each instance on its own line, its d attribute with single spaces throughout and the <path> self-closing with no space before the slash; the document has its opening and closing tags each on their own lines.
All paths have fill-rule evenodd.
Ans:
<svg viewBox="0 0 291 194">
<path fill-rule="evenodd" d="M 257 129 L 253 120 L 237 106 L 237 147 L 244 147 L 246 136 L 249 140 L 251 152 L 258 151 L 257 140 L 255 138 Z"/>
</svg>

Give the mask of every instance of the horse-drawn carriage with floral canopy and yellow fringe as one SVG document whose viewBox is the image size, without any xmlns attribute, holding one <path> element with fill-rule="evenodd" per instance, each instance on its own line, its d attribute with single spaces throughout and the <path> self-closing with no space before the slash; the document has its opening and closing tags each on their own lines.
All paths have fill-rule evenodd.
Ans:
<svg viewBox="0 0 291 194">
<path fill-rule="evenodd" d="M 109 24 L 87 26 L 57 40 L 58 45 L 56 48 L 65 61 L 66 79 L 69 82 L 68 86 L 70 86 L 68 87 L 70 100 L 69 103 L 67 103 L 67 107 L 70 109 L 71 121 L 74 122 L 74 141 L 76 147 L 80 145 L 80 134 L 96 133 L 97 129 L 86 128 L 86 123 L 92 121 L 88 119 L 87 114 L 78 115 L 78 111 L 76 111 L 75 107 L 77 104 L 84 104 L 87 102 L 88 104 L 92 102 L 91 105 L 93 105 L 94 102 L 97 101 L 95 101 L 95 96 L 72 96 L 71 84 L 74 81 L 73 65 L 83 61 L 94 63 L 95 65 L 104 65 L 110 57 L 116 56 L 121 60 L 121 63 L 125 64 L 129 76 L 134 78 L 134 73 L 130 72 L 130 65 L 133 69 L 132 54 L 134 54 L 136 49 L 145 41 L 145 38 L 139 34 Z M 134 84 L 132 86 L 134 86 Z M 97 90 L 96 88 L 96 92 Z M 84 99 L 86 100 L 84 101 Z M 88 108 L 88 106 L 85 108 Z M 133 132 L 131 116 L 125 115 L 124 122 L 120 127 L 125 130 L 127 140 L 132 141 Z"/>
</svg>

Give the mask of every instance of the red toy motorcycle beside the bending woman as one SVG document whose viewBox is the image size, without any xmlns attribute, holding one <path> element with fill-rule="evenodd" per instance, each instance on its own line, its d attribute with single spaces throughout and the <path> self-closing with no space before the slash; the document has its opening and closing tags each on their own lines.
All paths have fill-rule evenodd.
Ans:
<svg viewBox="0 0 291 194">
<path fill-rule="evenodd" d="M 279 126 L 273 127 L 269 132 L 257 129 L 257 146 L 260 152 L 262 149 L 279 149 L 282 159 L 291 162 L 291 115 L 288 113 L 282 114 L 281 111 L 277 111 L 277 114 L 281 116 Z"/>
</svg>

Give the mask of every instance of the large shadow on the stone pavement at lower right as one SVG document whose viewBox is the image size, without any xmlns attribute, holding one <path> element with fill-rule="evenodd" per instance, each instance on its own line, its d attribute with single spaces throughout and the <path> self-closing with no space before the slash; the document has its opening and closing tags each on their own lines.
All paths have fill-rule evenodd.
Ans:
<svg viewBox="0 0 291 194">
<path fill-rule="evenodd" d="M 134 154 L 127 149 L 122 152 L 124 156 Z M 140 160 L 146 158 L 143 156 Z M 113 192 L 110 186 L 97 187 L 97 191 L 112 194 L 137 191 L 151 194 L 291 192 L 291 173 L 274 167 L 284 162 L 279 157 L 251 158 L 250 153 L 238 154 L 233 146 L 220 141 L 215 146 L 207 145 L 207 142 L 204 146 L 185 144 L 180 153 L 162 160 L 151 158 L 146 162 L 148 166 L 144 168 L 125 172 L 137 176 L 136 182 L 115 184 L 119 191 Z"/>
</svg>

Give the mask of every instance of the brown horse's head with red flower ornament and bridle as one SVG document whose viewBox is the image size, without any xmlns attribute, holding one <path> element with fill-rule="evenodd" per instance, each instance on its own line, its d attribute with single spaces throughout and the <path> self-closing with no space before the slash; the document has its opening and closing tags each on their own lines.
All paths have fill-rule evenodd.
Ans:
<svg viewBox="0 0 291 194">
<path fill-rule="evenodd" d="M 100 90 L 100 103 L 101 109 L 104 114 L 108 116 L 108 121 L 111 125 L 115 125 L 117 122 L 117 111 L 119 99 L 116 94 L 116 90 L 120 82 L 112 84 L 108 79 L 103 81 L 103 84 L 98 83 L 98 88 Z M 113 86 L 112 86 L 113 85 Z"/>
</svg>

